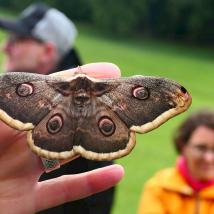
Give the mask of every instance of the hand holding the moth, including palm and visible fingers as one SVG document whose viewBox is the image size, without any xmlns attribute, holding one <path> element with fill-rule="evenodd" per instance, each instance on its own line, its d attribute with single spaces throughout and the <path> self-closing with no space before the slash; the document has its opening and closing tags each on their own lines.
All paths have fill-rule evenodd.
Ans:
<svg viewBox="0 0 214 214">
<path fill-rule="evenodd" d="M 69 77 L 75 71 L 72 69 L 55 75 Z M 120 76 L 118 67 L 110 63 L 87 64 L 81 67 L 81 71 L 97 78 Z M 36 213 L 108 189 L 124 175 L 121 166 L 112 165 L 38 182 L 44 168 L 41 159 L 29 149 L 26 133 L 0 122 L 0 135 L 1 213 Z"/>
</svg>

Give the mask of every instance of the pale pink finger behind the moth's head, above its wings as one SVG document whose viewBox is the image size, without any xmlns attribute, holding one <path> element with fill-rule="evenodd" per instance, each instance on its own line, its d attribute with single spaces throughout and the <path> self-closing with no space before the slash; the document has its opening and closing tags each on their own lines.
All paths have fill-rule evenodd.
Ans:
<svg viewBox="0 0 214 214">
<path fill-rule="evenodd" d="M 71 77 L 77 72 L 83 72 L 94 78 L 116 78 L 121 75 L 118 66 L 108 62 L 90 63 L 77 68 L 53 73 L 51 75 Z"/>
</svg>

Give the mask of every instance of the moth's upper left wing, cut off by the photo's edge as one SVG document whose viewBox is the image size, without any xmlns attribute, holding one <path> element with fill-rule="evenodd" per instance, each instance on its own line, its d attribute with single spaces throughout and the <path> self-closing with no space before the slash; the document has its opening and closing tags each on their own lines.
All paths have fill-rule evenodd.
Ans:
<svg viewBox="0 0 214 214">
<path fill-rule="evenodd" d="M 0 119 L 19 130 L 29 130 L 63 99 L 52 83 L 62 81 L 32 73 L 0 76 Z"/>
</svg>

